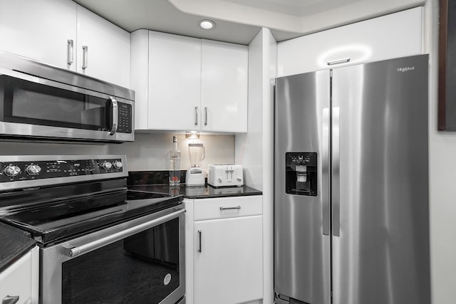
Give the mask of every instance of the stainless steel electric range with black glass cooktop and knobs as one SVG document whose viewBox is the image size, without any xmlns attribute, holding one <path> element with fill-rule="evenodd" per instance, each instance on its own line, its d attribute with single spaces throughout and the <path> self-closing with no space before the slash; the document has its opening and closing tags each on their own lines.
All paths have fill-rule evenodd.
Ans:
<svg viewBox="0 0 456 304">
<path fill-rule="evenodd" d="M 0 221 L 40 246 L 40 303 L 185 303 L 182 196 L 128 190 L 123 164 L 0 157 Z"/>
</svg>

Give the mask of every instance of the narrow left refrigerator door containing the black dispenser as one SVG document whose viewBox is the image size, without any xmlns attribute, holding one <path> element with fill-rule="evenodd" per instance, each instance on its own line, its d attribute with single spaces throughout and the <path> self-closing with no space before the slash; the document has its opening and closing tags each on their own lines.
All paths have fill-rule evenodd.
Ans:
<svg viewBox="0 0 456 304">
<path fill-rule="evenodd" d="M 281 298 L 312 304 L 331 300 L 329 88 L 329 70 L 276 80 L 274 288 Z M 286 194 L 286 155 L 293 153 L 315 160 L 307 167 L 316 172 L 299 178 L 316 178 L 316 192 Z"/>
</svg>

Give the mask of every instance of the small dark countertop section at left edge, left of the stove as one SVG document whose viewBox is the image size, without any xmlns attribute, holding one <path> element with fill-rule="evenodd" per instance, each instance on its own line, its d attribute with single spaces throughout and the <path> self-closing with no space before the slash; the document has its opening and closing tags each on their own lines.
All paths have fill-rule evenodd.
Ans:
<svg viewBox="0 0 456 304">
<path fill-rule="evenodd" d="M 30 234 L 0 222 L 0 272 L 36 245 Z"/>
</svg>

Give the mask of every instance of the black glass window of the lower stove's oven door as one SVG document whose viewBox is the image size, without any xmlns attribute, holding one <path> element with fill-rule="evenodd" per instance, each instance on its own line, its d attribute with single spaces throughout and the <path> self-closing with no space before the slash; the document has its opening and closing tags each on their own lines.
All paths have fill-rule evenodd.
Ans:
<svg viewBox="0 0 456 304">
<path fill-rule="evenodd" d="M 180 285 L 179 219 L 62 264 L 62 303 L 160 303 Z"/>
</svg>

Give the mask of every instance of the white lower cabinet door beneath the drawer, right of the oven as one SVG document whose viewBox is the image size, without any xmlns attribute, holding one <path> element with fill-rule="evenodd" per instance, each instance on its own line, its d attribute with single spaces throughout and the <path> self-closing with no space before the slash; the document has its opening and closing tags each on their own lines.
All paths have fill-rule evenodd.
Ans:
<svg viewBox="0 0 456 304">
<path fill-rule="evenodd" d="M 262 216 L 195 221 L 194 303 L 263 297 Z"/>
</svg>

